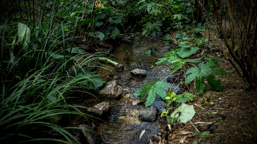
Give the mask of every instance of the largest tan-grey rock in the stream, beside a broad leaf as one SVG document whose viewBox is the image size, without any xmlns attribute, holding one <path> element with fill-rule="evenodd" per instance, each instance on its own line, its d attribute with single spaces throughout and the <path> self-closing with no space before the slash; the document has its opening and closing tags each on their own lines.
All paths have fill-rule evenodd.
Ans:
<svg viewBox="0 0 257 144">
<path fill-rule="evenodd" d="M 110 81 L 99 91 L 104 99 L 116 99 L 121 95 L 122 88 L 117 84 L 117 81 Z"/>
</svg>

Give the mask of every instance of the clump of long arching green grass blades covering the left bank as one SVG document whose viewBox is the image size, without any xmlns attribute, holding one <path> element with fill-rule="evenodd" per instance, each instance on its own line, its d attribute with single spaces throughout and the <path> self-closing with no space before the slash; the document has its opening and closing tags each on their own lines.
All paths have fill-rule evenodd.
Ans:
<svg viewBox="0 0 257 144">
<path fill-rule="evenodd" d="M 73 114 L 88 120 L 88 115 L 80 111 L 86 107 L 69 105 L 67 99 L 81 91 L 81 85 L 97 90 L 106 81 L 96 72 L 85 70 L 99 54 L 92 55 L 73 47 L 74 36 L 65 37 L 74 33 L 77 25 L 77 21 L 66 22 L 69 14 L 58 17 L 60 7 L 64 8 L 65 3 L 60 5 L 61 1 L 52 1 L 47 17 L 47 1 L 40 1 L 37 8 L 35 1 L 24 2 L 26 7 L 23 10 L 19 4 L 25 19 L 17 25 L 18 31 L 6 35 L 6 25 L 0 26 L 0 140 L 8 143 L 44 143 L 48 140 L 80 143 L 67 131 L 74 127 L 62 128 L 57 122 L 63 115 L 68 115 L 70 120 Z M 65 9 L 72 12 L 76 6 Z M 64 27 L 68 30 L 65 31 Z M 49 132 L 58 132 L 63 139 L 42 137 Z"/>
</svg>

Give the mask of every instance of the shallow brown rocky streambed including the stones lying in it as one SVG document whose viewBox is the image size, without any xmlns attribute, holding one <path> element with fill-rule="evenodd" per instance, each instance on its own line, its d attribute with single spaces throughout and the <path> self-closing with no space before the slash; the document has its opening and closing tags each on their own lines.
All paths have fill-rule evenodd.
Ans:
<svg viewBox="0 0 257 144">
<path fill-rule="evenodd" d="M 162 58 L 163 54 L 170 51 L 169 46 L 171 45 L 172 43 L 170 41 L 163 40 L 161 33 L 151 37 L 120 41 L 114 45 L 114 51 L 112 55 L 109 55 L 109 58 L 119 64 L 123 64 L 124 71 L 116 71 L 115 67 L 109 63 L 106 63 L 105 67 L 112 70 L 113 73 L 105 69 L 97 69 L 98 75 L 107 79 L 107 84 L 111 85 L 106 86 L 106 84 L 103 87 L 115 87 L 115 90 L 109 90 L 109 92 L 100 90 L 100 93 L 110 95 L 111 97 L 103 96 L 106 99 L 97 100 L 94 97 L 85 96 L 83 98 L 84 100 L 81 99 L 76 103 L 90 107 L 98 113 L 104 111 L 103 115 L 101 115 L 104 121 L 92 122 L 94 131 L 100 134 L 102 139 L 102 141 L 98 141 L 97 143 L 140 144 L 148 143 L 153 139 L 153 136 L 157 136 L 164 121 L 160 117 L 160 113 L 164 109 L 163 104 L 165 102 L 157 95 L 151 107 L 145 109 L 144 103 L 138 104 L 141 101 L 141 97 L 134 97 L 133 94 L 136 90 L 145 86 L 146 82 L 152 82 L 158 79 L 163 80 L 171 73 L 171 70 L 166 69 L 168 66 L 163 67 L 162 64 L 154 66 L 157 61 L 152 61 L 154 58 Z M 145 54 L 149 50 L 157 52 Z M 134 69 L 138 69 L 139 71 L 135 71 Z M 177 75 L 171 75 L 169 81 L 164 80 L 164 82 L 172 85 L 171 82 L 176 77 Z M 172 89 L 176 86 L 177 83 L 172 86 Z M 165 90 L 169 91 L 169 89 L 167 88 Z M 176 91 L 179 90 L 179 88 L 176 89 Z M 116 94 L 110 94 L 115 91 L 117 92 Z M 106 110 L 103 110 L 104 108 Z M 88 112 L 91 112 L 91 114 L 94 113 L 90 110 Z M 87 123 L 73 120 L 73 124 L 80 125 Z M 141 134 L 142 131 L 145 131 L 143 135 Z M 140 135 L 142 136 L 140 137 Z"/>
</svg>

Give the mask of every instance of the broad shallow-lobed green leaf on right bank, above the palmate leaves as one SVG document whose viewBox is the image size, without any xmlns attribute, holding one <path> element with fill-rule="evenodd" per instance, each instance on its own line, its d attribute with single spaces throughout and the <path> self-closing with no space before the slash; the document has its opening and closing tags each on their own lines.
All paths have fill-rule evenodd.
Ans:
<svg viewBox="0 0 257 144">
<path fill-rule="evenodd" d="M 181 58 L 186 58 L 195 54 L 199 50 L 199 47 L 195 47 L 193 45 L 178 45 L 177 47 L 177 54 Z"/>
</svg>

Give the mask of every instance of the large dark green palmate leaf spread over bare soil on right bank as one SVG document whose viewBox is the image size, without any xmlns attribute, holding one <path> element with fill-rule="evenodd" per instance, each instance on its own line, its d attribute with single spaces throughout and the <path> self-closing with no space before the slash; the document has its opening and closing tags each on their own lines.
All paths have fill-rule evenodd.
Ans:
<svg viewBox="0 0 257 144">
<path fill-rule="evenodd" d="M 216 65 L 217 63 L 207 62 L 204 64 L 204 62 L 201 62 L 199 64 L 199 68 L 193 67 L 188 69 L 188 71 L 186 71 L 186 75 L 188 76 L 186 78 L 185 84 L 188 84 L 189 82 L 193 81 L 195 77 L 197 77 L 197 80 L 195 80 L 195 86 L 199 95 L 202 95 L 204 91 L 204 79 L 207 80 L 211 87 L 218 91 L 222 91 L 220 81 L 215 76 L 211 75 L 211 73 L 216 75 L 228 75 L 229 73 L 219 68 L 210 68 Z"/>
</svg>

